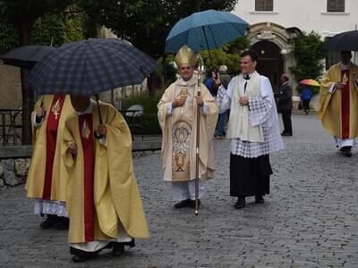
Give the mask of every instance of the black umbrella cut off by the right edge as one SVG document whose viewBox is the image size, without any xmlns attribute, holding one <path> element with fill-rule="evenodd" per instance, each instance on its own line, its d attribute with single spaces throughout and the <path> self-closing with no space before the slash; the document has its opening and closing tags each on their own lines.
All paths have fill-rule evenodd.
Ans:
<svg viewBox="0 0 358 268">
<path fill-rule="evenodd" d="M 358 51 L 358 30 L 349 30 L 329 38 L 323 46 L 331 51 Z"/>
</svg>

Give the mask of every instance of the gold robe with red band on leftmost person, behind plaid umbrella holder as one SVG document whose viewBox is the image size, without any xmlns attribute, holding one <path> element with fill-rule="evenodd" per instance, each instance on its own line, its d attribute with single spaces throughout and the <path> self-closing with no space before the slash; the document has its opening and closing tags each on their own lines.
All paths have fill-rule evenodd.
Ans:
<svg viewBox="0 0 358 268">
<path fill-rule="evenodd" d="M 61 157 L 64 122 L 74 113 L 70 96 L 44 95 L 35 110 L 44 108 L 46 115 L 39 127 L 32 129 L 33 153 L 26 182 L 28 197 L 65 201 L 68 173 Z M 32 113 L 31 121 L 34 120 Z"/>
</svg>

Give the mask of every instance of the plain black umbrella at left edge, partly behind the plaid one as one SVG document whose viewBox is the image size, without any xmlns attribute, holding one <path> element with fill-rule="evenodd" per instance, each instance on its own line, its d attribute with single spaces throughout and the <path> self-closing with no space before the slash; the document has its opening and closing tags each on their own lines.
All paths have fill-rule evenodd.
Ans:
<svg viewBox="0 0 358 268">
<path fill-rule="evenodd" d="M 54 51 L 53 46 L 21 46 L 0 56 L 4 64 L 31 69 L 49 52 Z"/>
</svg>

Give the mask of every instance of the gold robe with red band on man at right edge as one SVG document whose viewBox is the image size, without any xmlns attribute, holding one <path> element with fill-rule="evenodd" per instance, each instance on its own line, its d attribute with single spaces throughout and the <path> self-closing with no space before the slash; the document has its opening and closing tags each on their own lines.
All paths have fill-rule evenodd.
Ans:
<svg viewBox="0 0 358 268">
<path fill-rule="evenodd" d="M 341 63 L 329 68 L 320 83 L 320 103 L 317 115 L 323 127 L 337 138 L 358 137 L 358 66 L 351 63 L 341 70 Z M 345 83 L 345 88 L 334 93 L 328 90 L 333 83 Z"/>
</svg>

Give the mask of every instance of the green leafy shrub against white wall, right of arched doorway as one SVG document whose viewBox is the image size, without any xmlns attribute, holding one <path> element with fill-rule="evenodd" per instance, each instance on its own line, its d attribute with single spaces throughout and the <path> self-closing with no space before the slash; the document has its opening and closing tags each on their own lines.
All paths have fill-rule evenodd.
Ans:
<svg viewBox="0 0 358 268">
<path fill-rule="evenodd" d="M 314 31 L 303 32 L 302 36 L 294 40 L 294 56 L 297 65 L 290 68 L 296 81 L 304 79 L 316 80 L 320 77 L 323 65 L 320 62 L 326 57 L 322 49 L 324 42 L 320 35 Z"/>
</svg>

